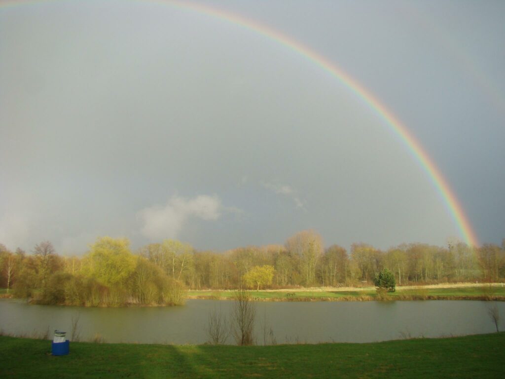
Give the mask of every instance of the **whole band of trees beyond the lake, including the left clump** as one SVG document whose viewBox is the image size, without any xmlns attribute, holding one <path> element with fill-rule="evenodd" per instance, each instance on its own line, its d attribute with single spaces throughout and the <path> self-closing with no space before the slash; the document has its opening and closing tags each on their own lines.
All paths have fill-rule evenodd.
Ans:
<svg viewBox="0 0 505 379">
<path fill-rule="evenodd" d="M 83 256 L 58 255 L 49 242 L 31 253 L 0 245 L 0 287 L 43 304 L 166 305 L 181 304 L 186 289 L 371 285 L 383 269 L 399 286 L 505 277 L 505 240 L 502 246 L 411 243 L 385 251 L 358 243 L 347 252 L 338 245 L 325 249 L 314 230 L 300 231 L 284 245 L 226 252 L 196 251 L 175 240 L 132 252 L 127 239 L 102 237 Z"/>
</svg>

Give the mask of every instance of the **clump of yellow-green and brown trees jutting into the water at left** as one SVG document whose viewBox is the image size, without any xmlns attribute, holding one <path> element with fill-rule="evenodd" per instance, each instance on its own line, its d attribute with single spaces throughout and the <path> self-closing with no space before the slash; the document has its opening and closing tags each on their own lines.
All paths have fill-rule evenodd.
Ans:
<svg viewBox="0 0 505 379">
<path fill-rule="evenodd" d="M 184 301 L 182 282 L 130 251 L 127 239 L 103 237 L 83 257 L 62 257 L 50 242 L 28 255 L 2 247 L 1 286 L 37 304 L 120 306 L 176 305 Z"/>
</svg>

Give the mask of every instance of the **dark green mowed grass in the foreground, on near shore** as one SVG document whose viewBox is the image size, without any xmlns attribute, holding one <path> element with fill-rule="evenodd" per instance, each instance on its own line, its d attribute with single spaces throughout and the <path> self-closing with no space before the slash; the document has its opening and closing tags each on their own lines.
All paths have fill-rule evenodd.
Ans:
<svg viewBox="0 0 505 379">
<path fill-rule="evenodd" d="M 371 344 L 172 346 L 0 337 L 0 377 L 502 378 L 505 333 Z"/>
</svg>

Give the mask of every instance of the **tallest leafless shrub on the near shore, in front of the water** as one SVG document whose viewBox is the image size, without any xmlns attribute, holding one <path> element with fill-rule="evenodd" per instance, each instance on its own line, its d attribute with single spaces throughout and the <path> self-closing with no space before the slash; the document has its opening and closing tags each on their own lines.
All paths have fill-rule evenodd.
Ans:
<svg viewBox="0 0 505 379">
<path fill-rule="evenodd" d="M 252 302 L 247 291 L 239 290 L 235 293 L 233 304 L 233 336 L 237 345 L 253 345 L 252 329 L 256 318 L 256 305 Z"/>
</svg>

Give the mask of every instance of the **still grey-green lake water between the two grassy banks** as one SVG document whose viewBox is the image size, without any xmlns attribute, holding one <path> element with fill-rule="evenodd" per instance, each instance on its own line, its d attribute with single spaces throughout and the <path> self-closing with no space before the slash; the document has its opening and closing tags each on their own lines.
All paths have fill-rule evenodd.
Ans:
<svg viewBox="0 0 505 379">
<path fill-rule="evenodd" d="M 374 342 L 405 337 L 442 337 L 492 333 L 488 309 L 497 306 L 505 317 L 505 302 L 257 302 L 255 334 L 258 344 Z M 66 330 L 79 317 L 80 339 L 99 334 L 105 342 L 203 344 L 209 340 L 209 313 L 227 318 L 230 300 L 188 300 L 178 307 L 81 308 L 29 305 L 0 300 L 0 328 L 11 335 L 42 335 Z M 266 327 L 264 327 L 266 325 Z M 503 328 L 501 321 L 500 330 Z M 270 334 L 272 330 L 272 334 Z M 266 333 L 265 333 L 266 332 Z M 266 338 L 265 338 L 266 335 Z M 234 343 L 230 335 L 228 343 Z"/>
</svg>

